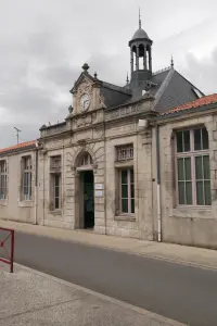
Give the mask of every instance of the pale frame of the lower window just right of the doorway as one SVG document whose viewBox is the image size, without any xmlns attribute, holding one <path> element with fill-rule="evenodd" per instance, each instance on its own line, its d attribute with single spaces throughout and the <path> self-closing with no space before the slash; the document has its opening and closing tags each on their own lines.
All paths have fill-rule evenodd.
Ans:
<svg viewBox="0 0 217 326">
<path fill-rule="evenodd" d="M 127 184 L 123 184 L 122 181 L 122 172 L 123 171 L 127 171 Z M 130 172 L 133 172 L 133 183 L 131 183 L 130 179 Z M 133 212 L 132 212 L 132 206 L 131 206 L 131 200 L 135 198 L 131 198 L 131 185 L 133 185 L 135 188 L 135 171 L 133 167 L 126 167 L 126 168 L 119 168 L 118 171 L 118 177 L 119 177 L 119 211 L 122 215 L 135 215 L 135 205 L 133 205 Z M 123 193 L 122 193 L 122 186 L 123 185 L 127 185 L 127 196 L 128 198 L 123 198 Z M 133 189 L 135 191 L 135 189 Z M 123 212 L 123 199 L 127 199 L 128 200 L 128 212 Z"/>
</svg>

